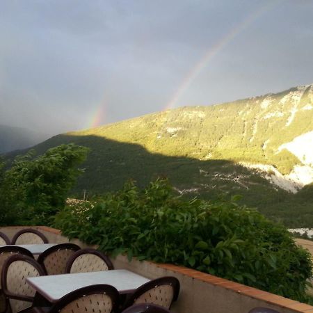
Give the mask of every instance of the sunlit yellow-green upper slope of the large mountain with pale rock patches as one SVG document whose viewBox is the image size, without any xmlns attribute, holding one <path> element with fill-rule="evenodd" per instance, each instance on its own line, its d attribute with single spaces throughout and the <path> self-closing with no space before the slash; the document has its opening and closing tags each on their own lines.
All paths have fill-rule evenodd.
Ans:
<svg viewBox="0 0 313 313">
<path fill-rule="evenodd" d="M 310 96 L 310 104 L 305 103 L 303 105 L 303 102 L 301 102 L 301 99 L 305 95 L 305 93 L 309 94 Z M 125 120 L 121 122 L 117 122 L 110 125 L 104 125 L 102 127 L 97 127 L 94 129 L 87 129 L 84 131 L 75 131 L 67 134 L 73 134 L 73 135 L 87 135 L 87 134 L 95 134 L 96 136 L 106 136 L 106 138 L 110 138 L 113 140 L 121 141 L 121 142 L 135 142 L 143 145 L 148 151 L 150 152 L 161 152 L 165 153 L 166 155 L 180 155 L 180 156 L 188 156 L 188 157 L 195 157 L 196 159 L 210 159 L 210 158 L 217 158 L 217 159 L 232 159 L 234 161 L 243 161 L 248 163 L 259 163 L 260 161 L 265 162 L 268 166 L 274 166 L 275 168 L 278 168 L 280 172 L 284 175 L 288 175 L 291 173 L 291 170 L 295 166 L 307 166 L 307 164 L 303 164 L 303 160 L 299 159 L 294 152 L 288 148 L 288 144 L 292 141 L 294 141 L 297 136 L 303 136 L 305 133 L 303 133 L 303 124 L 306 120 L 307 124 L 307 130 L 313 129 L 312 127 L 312 99 L 313 99 L 313 88 L 312 85 L 306 85 L 306 86 L 300 86 L 298 88 L 290 88 L 289 90 L 286 90 L 284 92 L 278 93 L 280 95 L 280 99 L 275 99 L 276 95 L 273 93 L 266 94 L 264 96 L 258 96 L 258 97 L 252 97 L 248 99 L 243 100 L 237 100 L 236 102 L 228 102 L 226 104 L 217 104 L 214 106 L 185 106 L 183 108 L 179 109 L 173 109 L 173 110 L 167 110 L 164 112 L 159 113 L 151 113 L 147 115 L 143 115 L 138 118 L 133 118 L 130 120 Z M 277 97 L 276 97 L 277 98 Z M 279 101 L 278 101 L 279 100 Z M 247 116 L 253 108 L 253 104 L 249 102 L 254 102 L 254 104 L 259 104 L 260 111 L 255 112 L 255 115 L 250 118 Z M 276 103 L 276 109 L 278 104 L 282 106 L 289 106 L 289 111 L 284 110 L 286 108 L 278 108 L 279 111 L 273 111 L 268 110 L 268 108 L 271 109 L 271 106 L 273 106 L 273 102 Z M 228 108 L 227 108 L 228 106 Z M 220 134 L 219 138 L 214 138 L 214 141 L 211 143 L 211 145 L 204 145 L 204 141 L 202 140 L 201 144 L 201 136 L 204 132 L 203 129 L 207 129 L 208 125 L 203 125 L 203 123 L 198 123 L 196 125 L 198 129 L 197 131 L 194 131 L 195 127 L 191 127 L 188 125 L 188 131 L 190 132 L 193 130 L 195 132 L 194 136 L 198 136 L 197 141 L 194 141 L 193 138 L 190 138 L 188 136 L 188 141 L 192 141 L 192 144 L 196 147 L 196 149 L 192 149 L 190 145 L 187 145 L 188 149 L 187 151 L 182 152 L 184 149 L 182 149 L 182 144 L 186 144 L 183 140 L 179 141 L 179 147 L 175 145 L 174 143 L 170 143 L 172 147 L 172 151 L 170 150 L 164 150 L 163 143 L 164 138 L 167 140 L 169 138 L 177 138 L 184 136 L 184 130 L 186 127 L 186 119 L 184 120 L 184 117 L 187 116 L 187 118 L 198 118 L 198 120 L 202 119 L 204 120 L 208 114 L 215 113 L 215 120 L 222 120 L 223 117 L 221 115 L 216 114 L 216 110 L 218 111 L 228 111 L 228 115 L 230 113 L 230 109 L 233 109 L 232 107 L 236 106 L 236 109 L 239 109 L 238 106 L 248 106 L 245 109 L 244 107 L 241 108 L 241 111 L 238 112 L 239 118 L 241 117 L 241 127 L 243 127 L 243 132 L 241 132 L 242 140 L 240 143 L 237 142 L 236 145 L 233 145 L 232 142 L 232 133 L 233 131 L 236 131 L 236 125 L 240 125 L 240 121 L 234 122 L 236 110 L 232 115 L 232 120 L 230 120 L 230 126 L 226 125 L 226 131 L 225 134 Z M 274 109 L 275 109 L 274 107 Z M 250 110 L 250 111 L 249 111 Z M 296 117 L 296 113 L 303 114 L 303 111 L 310 111 L 310 115 L 307 115 L 306 118 L 301 118 L 300 122 L 298 121 L 298 118 Z M 178 114 L 175 115 L 175 112 Z M 180 114 L 179 114 L 180 113 Z M 287 116 L 289 113 L 289 116 Z M 306 113 L 306 112 L 305 112 Z M 162 116 L 163 115 L 163 116 Z M 174 118 L 173 116 L 174 115 Z M 184 116 L 182 116 L 184 115 Z M 242 115 L 242 116 L 241 116 Z M 259 122 L 262 121 L 263 123 L 266 123 L 266 127 L 264 128 L 264 131 L 268 131 L 268 129 L 271 129 L 272 131 L 275 131 L 275 125 L 270 125 L 271 123 L 268 122 L 269 120 L 275 119 L 275 125 L 280 125 L 280 127 L 284 131 L 284 141 L 278 141 L 278 136 L 267 136 L 267 138 L 260 138 L 258 136 L 257 128 L 259 127 Z M 152 120 L 163 120 L 159 125 L 157 123 L 153 123 Z M 175 121 L 179 120 L 179 122 Z M 296 120 L 295 120 L 296 119 Z M 229 120 L 229 119 L 228 119 Z M 278 122 L 280 120 L 280 123 Z M 196 121 L 195 121 L 196 122 Z M 223 121 L 222 121 L 223 122 Z M 249 125 L 250 123 L 250 129 Z M 292 125 L 292 124 L 295 124 Z M 145 136 L 143 134 L 138 133 L 138 131 L 134 131 L 133 129 L 140 129 L 145 125 L 145 128 L 147 129 L 147 133 Z M 225 125 L 223 125 L 225 127 Z M 300 125 L 300 127 L 299 127 Z M 211 127 L 211 125 L 209 125 Z M 214 125 L 216 128 L 216 125 Z M 111 131 L 111 128 L 113 128 L 113 131 Z M 127 129 L 129 133 L 131 133 L 131 136 L 125 136 L 125 131 L 123 131 L 121 128 Z M 192 129 L 193 128 L 193 129 Z M 238 127 L 237 127 L 238 128 Z M 287 129 L 287 130 L 286 130 Z M 290 130 L 291 129 L 291 130 Z M 238 129 L 237 129 L 238 130 Z M 113 133 L 116 134 L 113 134 Z M 227 134 L 228 132 L 228 134 Z M 148 134 L 150 133 L 150 134 Z M 238 131 L 237 131 L 238 133 Z M 250 133 L 250 136 L 249 134 Z M 122 134 L 122 136 L 121 136 Z M 214 131 L 211 131 L 211 134 L 214 134 Z M 234 133 L 233 133 L 234 134 Z M 154 136 L 155 135 L 155 136 Z M 237 134 L 239 135 L 239 133 Z M 266 135 L 266 134 L 265 134 Z M 312 141 L 313 138 L 313 132 L 307 131 L 307 135 L 310 135 L 310 140 Z M 152 138 L 154 136 L 154 138 Z M 216 136 L 215 136 L 216 137 Z M 246 139 L 245 139 L 246 137 Z M 259 138 L 258 138 L 259 137 Z M 162 140 L 163 139 L 163 140 Z M 262 140 L 264 139 L 264 140 Z M 289 141 L 286 141 L 288 140 Z M 244 142 L 246 140 L 246 143 Z M 158 141 L 161 142 L 161 145 L 158 143 Z M 253 143 L 253 142 L 256 143 Z M 271 141 L 274 141 L 273 145 L 271 146 Z M 279 144 L 280 143 L 280 144 Z M 243 147 L 242 145 L 246 145 Z M 232 146 L 232 153 L 226 153 L 225 146 Z M 224 150 L 223 152 L 220 151 L 220 147 Z M 235 150 L 241 150 L 240 153 L 236 153 Z M 227 149 L 226 149 L 227 150 Z M 255 152 L 255 150 L 259 150 Z M 180 151 L 180 153 L 179 153 Z M 207 151 L 205 154 L 204 151 Z M 253 153 L 256 155 L 253 157 Z M 231 155 L 232 154 L 232 155 Z M 241 155 L 240 155 L 241 154 Z M 263 154 L 263 158 L 262 158 Z M 304 155 L 310 155 L 309 151 L 306 151 Z M 312 155 L 310 155 L 310 158 L 313 158 Z M 289 163 L 289 164 L 288 164 Z M 312 163 L 310 163 L 312 165 Z M 295 174 L 296 175 L 296 174 Z M 277 175 L 276 175 L 277 176 Z M 291 178 L 292 180 L 292 175 Z M 309 177 L 305 177 L 306 184 L 310 184 L 313 181 L 313 175 L 310 175 Z M 298 179 L 299 181 L 300 179 Z M 300 187 L 304 186 L 305 184 L 301 181 L 299 181 L 298 185 L 295 186 L 293 191 L 296 191 L 296 189 L 299 189 Z M 290 189 L 290 188 L 289 188 Z"/>
</svg>

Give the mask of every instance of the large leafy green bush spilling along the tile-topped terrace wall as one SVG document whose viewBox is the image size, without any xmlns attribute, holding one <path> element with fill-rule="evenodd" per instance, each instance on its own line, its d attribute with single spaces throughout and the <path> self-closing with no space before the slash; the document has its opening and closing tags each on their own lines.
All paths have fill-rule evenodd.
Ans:
<svg viewBox="0 0 313 313">
<path fill-rule="evenodd" d="M 309 253 L 282 225 L 235 200 L 182 200 L 159 179 L 143 191 L 129 183 L 95 202 L 66 207 L 55 226 L 112 255 L 180 264 L 305 300 Z"/>
</svg>

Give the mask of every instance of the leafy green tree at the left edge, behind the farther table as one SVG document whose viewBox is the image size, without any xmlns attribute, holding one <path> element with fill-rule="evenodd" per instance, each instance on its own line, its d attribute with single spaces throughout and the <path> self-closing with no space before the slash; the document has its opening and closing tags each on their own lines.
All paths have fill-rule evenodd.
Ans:
<svg viewBox="0 0 313 313">
<path fill-rule="evenodd" d="M 17 157 L 9 170 L 0 163 L 0 225 L 49 225 L 64 207 L 86 159 L 86 147 L 60 145 L 32 159 Z"/>
</svg>

